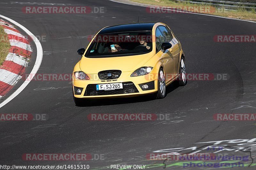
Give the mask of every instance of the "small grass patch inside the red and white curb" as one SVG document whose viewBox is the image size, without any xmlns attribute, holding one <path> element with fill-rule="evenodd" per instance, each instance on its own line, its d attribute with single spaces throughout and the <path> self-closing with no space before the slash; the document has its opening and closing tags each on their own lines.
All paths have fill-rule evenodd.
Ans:
<svg viewBox="0 0 256 170">
<path fill-rule="evenodd" d="M 6 56 L 11 48 L 7 34 L 4 32 L 4 28 L 0 26 L 0 65 L 4 62 Z"/>
</svg>

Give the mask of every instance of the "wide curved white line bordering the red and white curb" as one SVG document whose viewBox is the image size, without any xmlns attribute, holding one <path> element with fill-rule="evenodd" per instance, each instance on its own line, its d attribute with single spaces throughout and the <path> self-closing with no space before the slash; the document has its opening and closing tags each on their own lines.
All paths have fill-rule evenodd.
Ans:
<svg viewBox="0 0 256 170">
<path fill-rule="evenodd" d="M 28 78 L 27 80 L 25 80 L 23 82 L 23 84 L 14 92 L 12 93 L 7 99 L 5 99 L 1 104 L 0 104 L 0 108 L 3 107 L 4 105 L 6 105 L 9 101 L 11 101 L 13 98 L 15 98 L 18 94 L 20 94 L 20 92 L 25 89 L 25 87 L 28 85 L 28 83 L 32 80 L 32 78 L 35 76 L 36 72 L 38 71 L 42 60 L 43 60 L 43 48 L 42 45 L 40 43 L 40 41 L 36 38 L 36 36 L 31 33 L 27 28 L 25 28 L 24 26 L 20 25 L 18 22 L 12 20 L 11 18 L 5 17 L 3 15 L 0 15 L 1 18 L 4 18 L 6 20 L 8 20 L 9 22 L 11 22 L 12 24 L 20 27 L 24 32 L 26 32 L 28 35 L 33 36 L 35 38 L 33 38 L 33 41 L 36 44 L 36 62 L 35 65 L 33 67 L 33 69 L 31 70 L 30 74 L 32 75 L 31 78 Z M 14 31 L 13 31 L 14 32 Z"/>
</svg>

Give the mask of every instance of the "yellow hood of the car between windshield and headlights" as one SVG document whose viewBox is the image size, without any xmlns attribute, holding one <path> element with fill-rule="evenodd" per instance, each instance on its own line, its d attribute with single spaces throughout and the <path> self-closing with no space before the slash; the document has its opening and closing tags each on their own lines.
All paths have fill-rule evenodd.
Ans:
<svg viewBox="0 0 256 170">
<path fill-rule="evenodd" d="M 135 71 L 153 57 L 152 53 L 122 57 L 87 58 L 82 57 L 79 66 L 86 74 L 98 74 L 103 70 Z"/>
</svg>

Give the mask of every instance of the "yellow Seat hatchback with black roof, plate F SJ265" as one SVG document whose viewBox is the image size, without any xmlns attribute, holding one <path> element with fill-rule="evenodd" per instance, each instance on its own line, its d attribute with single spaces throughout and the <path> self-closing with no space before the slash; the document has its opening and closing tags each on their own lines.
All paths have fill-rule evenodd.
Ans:
<svg viewBox="0 0 256 170">
<path fill-rule="evenodd" d="M 84 99 L 132 97 L 154 93 L 164 98 L 173 81 L 186 85 L 185 55 L 164 23 L 132 23 L 101 29 L 72 76 L 76 105 Z"/>
</svg>

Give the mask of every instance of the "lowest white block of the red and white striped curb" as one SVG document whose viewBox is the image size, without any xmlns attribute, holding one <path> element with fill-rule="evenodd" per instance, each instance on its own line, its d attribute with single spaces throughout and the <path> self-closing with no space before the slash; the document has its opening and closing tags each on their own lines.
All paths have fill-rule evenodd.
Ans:
<svg viewBox="0 0 256 170">
<path fill-rule="evenodd" d="M 17 81 L 22 78 L 22 76 L 15 74 L 11 71 L 0 69 L 0 81 L 8 84 L 8 85 L 15 85 Z"/>
</svg>

